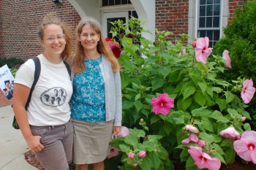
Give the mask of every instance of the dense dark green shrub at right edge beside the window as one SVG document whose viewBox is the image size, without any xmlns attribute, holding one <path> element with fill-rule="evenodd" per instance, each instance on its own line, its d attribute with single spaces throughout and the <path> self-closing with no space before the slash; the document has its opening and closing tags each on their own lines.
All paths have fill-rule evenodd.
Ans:
<svg viewBox="0 0 256 170">
<path fill-rule="evenodd" d="M 232 22 L 224 28 L 225 38 L 214 46 L 214 54 L 229 50 L 231 58 L 230 72 L 223 78 L 227 81 L 237 77 L 252 79 L 256 85 L 256 0 L 247 1 L 244 8 L 238 9 Z M 256 97 L 249 103 L 248 112 L 252 116 L 252 125 L 256 129 Z"/>
</svg>

